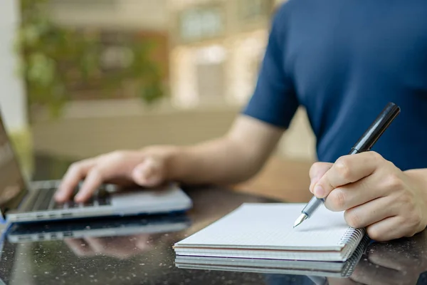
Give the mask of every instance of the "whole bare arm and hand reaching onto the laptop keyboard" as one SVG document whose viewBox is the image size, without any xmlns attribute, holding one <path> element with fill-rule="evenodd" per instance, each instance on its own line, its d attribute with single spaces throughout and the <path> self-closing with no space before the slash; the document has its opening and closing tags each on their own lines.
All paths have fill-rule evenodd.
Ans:
<svg viewBox="0 0 427 285">
<path fill-rule="evenodd" d="M 186 184 L 228 184 L 253 176 L 265 163 L 283 130 L 239 115 L 222 138 L 188 147 L 157 145 L 135 151 L 115 151 L 74 163 L 56 193 L 70 199 L 84 180 L 75 201 L 84 202 L 103 182 L 154 187 L 173 180 Z"/>
</svg>

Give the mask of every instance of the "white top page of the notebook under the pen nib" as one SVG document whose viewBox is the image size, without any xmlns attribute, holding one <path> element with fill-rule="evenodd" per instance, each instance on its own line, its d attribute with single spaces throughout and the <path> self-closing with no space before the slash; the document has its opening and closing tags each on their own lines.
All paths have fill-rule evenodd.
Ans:
<svg viewBox="0 0 427 285">
<path fill-rule="evenodd" d="M 293 228 L 305 204 L 248 203 L 175 244 L 176 247 L 220 247 L 235 249 L 340 250 L 352 230 L 344 212 L 325 206 Z"/>
</svg>

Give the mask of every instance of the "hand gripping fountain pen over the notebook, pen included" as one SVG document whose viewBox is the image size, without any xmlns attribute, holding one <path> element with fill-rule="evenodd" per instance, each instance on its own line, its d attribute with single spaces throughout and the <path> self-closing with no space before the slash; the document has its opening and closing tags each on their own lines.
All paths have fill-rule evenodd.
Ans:
<svg viewBox="0 0 427 285">
<path fill-rule="evenodd" d="M 403 172 L 378 153 L 368 151 L 399 111 L 389 103 L 349 155 L 339 157 L 333 164 L 312 165 L 310 191 L 315 197 L 302 209 L 295 225 L 315 214 L 325 199 L 325 207 L 345 211 L 349 226 L 366 227 L 369 237 L 377 241 L 412 236 L 426 228 L 425 172 Z"/>
</svg>

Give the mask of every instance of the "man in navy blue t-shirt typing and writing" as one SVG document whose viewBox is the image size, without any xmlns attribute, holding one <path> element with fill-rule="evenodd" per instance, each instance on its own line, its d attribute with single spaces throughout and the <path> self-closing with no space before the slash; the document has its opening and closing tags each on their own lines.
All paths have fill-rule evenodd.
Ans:
<svg viewBox="0 0 427 285">
<path fill-rule="evenodd" d="M 253 97 L 223 137 L 77 162 L 57 193 L 88 199 L 101 182 L 233 183 L 255 175 L 303 105 L 320 162 L 310 191 L 345 210 L 372 239 L 409 237 L 427 224 L 427 2 L 290 0 L 273 19 Z M 345 155 L 386 103 L 401 114 L 374 151 Z"/>
</svg>

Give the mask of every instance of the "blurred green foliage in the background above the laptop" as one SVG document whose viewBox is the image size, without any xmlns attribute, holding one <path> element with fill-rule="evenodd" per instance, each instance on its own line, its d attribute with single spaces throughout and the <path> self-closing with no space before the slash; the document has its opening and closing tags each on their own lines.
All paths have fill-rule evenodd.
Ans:
<svg viewBox="0 0 427 285">
<path fill-rule="evenodd" d="M 145 103 L 164 97 L 162 72 L 150 59 L 152 42 L 127 38 L 122 45 L 127 47 L 129 64 L 106 72 L 100 31 L 53 23 L 48 4 L 48 0 L 20 1 L 16 50 L 21 58 L 20 74 L 26 84 L 28 106 L 48 107 L 51 114 L 59 115 L 64 103 L 82 86 L 108 96 L 121 92 L 127 84 Z"/>
</svg>

